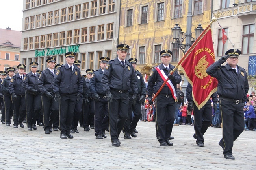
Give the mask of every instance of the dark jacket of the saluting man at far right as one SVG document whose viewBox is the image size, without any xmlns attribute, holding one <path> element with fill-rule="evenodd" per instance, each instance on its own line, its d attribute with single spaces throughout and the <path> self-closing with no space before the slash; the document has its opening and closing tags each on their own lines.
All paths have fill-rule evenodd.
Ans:
<svg viewBox="0 0 256 170">
<path fill-rule="evenodd" d="M 242 99 L 243 102 L 246 102 L 249 90 L 247 74 L 245 69 L 238 65 L 237 70 L 238 73 L 229 64 L 221 66 L 221 62 L 217 61 L 206 69 L 206 73 L 217 78 L 219 97 Z"/>
</svg>

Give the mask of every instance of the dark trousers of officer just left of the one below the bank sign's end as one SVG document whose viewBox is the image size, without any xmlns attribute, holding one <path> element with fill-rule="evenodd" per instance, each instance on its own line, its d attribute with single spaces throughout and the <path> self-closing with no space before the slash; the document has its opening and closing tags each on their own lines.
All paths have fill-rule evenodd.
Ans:
<svg viewBox="0 0 256 170">
<path fill-rule="evenodd" d="M 45 125 L 45 131 L 52 128 L 52 123 L 56 119 L 59 113 L 59 102 L 55 102 L 54 99 L 49 99 L 45 94 L 42 94 L 42 108 L 43 110 L 43 124 Z"/>
</svg>

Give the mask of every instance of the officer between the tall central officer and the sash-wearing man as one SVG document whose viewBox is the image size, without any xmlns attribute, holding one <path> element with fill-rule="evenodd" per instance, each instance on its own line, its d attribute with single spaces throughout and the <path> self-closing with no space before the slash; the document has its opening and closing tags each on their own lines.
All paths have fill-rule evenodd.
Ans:
<svg viewBox="0 0 256 170">
<path fill-rule="evenodd" d="M 141 117 L 141 102 L 145 102 L 145 96 L 147 94 L 147 88 L 143 77 L 141 73 L 136 70 L 138 60 L 136 58 L 130 58 L 128 62 L 132 64 L 135 70 L 138 94 L 136 104 L 134 106 L 132 101 L 132 90 L 129 90 L 129 110 L 123 127 L 124 139 L 131 139 L 130 135 L 132 137 L 137 137 L 137 135 L 134 133 L 134 129 L 136 128 Z M 134 117 L 132 117 L 132 112 L 134 112 Z"/>
</svg>

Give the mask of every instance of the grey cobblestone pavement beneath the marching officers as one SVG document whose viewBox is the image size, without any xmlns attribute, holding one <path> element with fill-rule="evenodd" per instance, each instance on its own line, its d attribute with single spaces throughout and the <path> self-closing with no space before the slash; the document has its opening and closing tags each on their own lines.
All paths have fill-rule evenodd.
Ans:
<svg viewBox="0 0 256 170">
<path fill-rule="evenodd" d="M 218 145 L 221 128 L 208 128 L 203 148 L 193 139 L 193 126 L 174 126 L 173 146 L 160 146 L 155 124 L 139 122 L 137 138 L 124 139 L 120 147 L 111 146 L 110 135 L 95 139 L 94 131 L 74 134 L 74 139 L 60 139 L 60 132 L 44 134 L 43 128 L 28 131 L 0 124 L 1 170 L 255 170 L 256 132 L 245 131 L 235 141 L 235 160 L 223 158 Z"/>
</svg>

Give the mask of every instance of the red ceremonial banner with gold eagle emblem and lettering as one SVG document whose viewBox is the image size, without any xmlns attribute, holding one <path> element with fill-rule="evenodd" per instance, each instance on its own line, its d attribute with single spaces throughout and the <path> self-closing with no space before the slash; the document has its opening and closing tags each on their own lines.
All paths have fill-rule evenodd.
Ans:
<svg viewBox="0 0 256 170">
<path fill-rule="evenodd" d="M 217 79 L 206 73 L 206 69 L 214 62 L 215 55 L 209 29 L 180 64 L 180 69 L 193 87 L 192 96 L 198 109 L 202 108 L 217 91 Z"/>
</svg>

